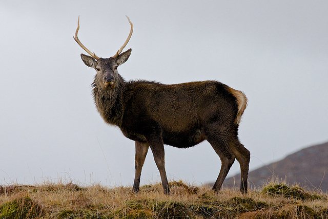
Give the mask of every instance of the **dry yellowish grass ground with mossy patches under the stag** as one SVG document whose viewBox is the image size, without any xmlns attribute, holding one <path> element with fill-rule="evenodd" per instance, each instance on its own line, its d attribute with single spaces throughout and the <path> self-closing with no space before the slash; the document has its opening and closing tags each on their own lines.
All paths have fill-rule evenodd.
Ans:
<svg viewBox="0 0 328 219">
<path fill-rule="evenodd" d="M 132 188 L 72 183 L 0 187 L 0 218 L 328 218 L 328 195 L 271 183 L 242 195 L 171 182 Z"/>
</svg>

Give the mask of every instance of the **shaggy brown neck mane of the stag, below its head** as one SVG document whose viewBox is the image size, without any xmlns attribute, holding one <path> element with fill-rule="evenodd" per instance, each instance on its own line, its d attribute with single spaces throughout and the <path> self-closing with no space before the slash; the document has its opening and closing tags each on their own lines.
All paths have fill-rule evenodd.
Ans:
<svg viewBox="0 0 328 219">
<path fill-rule="evenodd" d="M 96 78 L 91 84 L 93 87 L 94 103 L 105 122 L 120 127 L 122 117 L 122 94 L 125 89 L 125 81 L 122 77 L 110 88 L 104 88 L 96 83 Z"/>
</svg>

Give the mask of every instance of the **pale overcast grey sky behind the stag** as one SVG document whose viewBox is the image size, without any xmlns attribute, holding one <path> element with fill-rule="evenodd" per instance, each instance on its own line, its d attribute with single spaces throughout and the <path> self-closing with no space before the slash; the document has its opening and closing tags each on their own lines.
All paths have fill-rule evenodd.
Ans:
<svg viewBox="0 0 328 219">
<path fill-rule="evenodd" d="M 78 15 L 81 42 L 100 57 L 124 43 L 130 17 L 132 54 L 118 69 L 127 80 L 215 79 L 242 90 L 251 170 L 328 141 L 327 12 L 327 1 L 2 1 L 0 184 L 133 183 L 134 143 L 93 104 L 95 71 L 73 39 Z M 165 148 L 171 180 L 216 179 L 209 143 Z M 238 171 L 235 162 L 229 175 Z M 151 182 L 159 173 L 150 151 L 141 183 Z"/>
</svg>

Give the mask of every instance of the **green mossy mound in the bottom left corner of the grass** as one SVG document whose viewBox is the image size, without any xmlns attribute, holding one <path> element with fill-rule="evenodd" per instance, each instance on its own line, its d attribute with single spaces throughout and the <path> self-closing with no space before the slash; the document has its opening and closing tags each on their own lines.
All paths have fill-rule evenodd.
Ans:
<svg viewBox="0 0 328 219">
<path fill-rule="evenodd" d="M 0 206 L 0 218 L 37 218 L 43 213 L 42 206 L 29 197 L 15 198 Z"/>
</svg>

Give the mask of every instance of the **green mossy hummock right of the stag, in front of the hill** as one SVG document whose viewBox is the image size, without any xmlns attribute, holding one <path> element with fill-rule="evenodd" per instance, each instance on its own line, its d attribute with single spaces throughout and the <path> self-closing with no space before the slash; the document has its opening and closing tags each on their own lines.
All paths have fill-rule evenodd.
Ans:
<svg viewBox="0 0 328 219">
<path fill-rule="evenodd" d="M 286 198 L 296 198 L 298 200 L 318 200 L 321 197 L 304 191 L 304 189 L 293 186 L 289 187 L 285 184 L 270 184 L 263 188 L 263 194 L 283 195 Z"/>
</svg>

